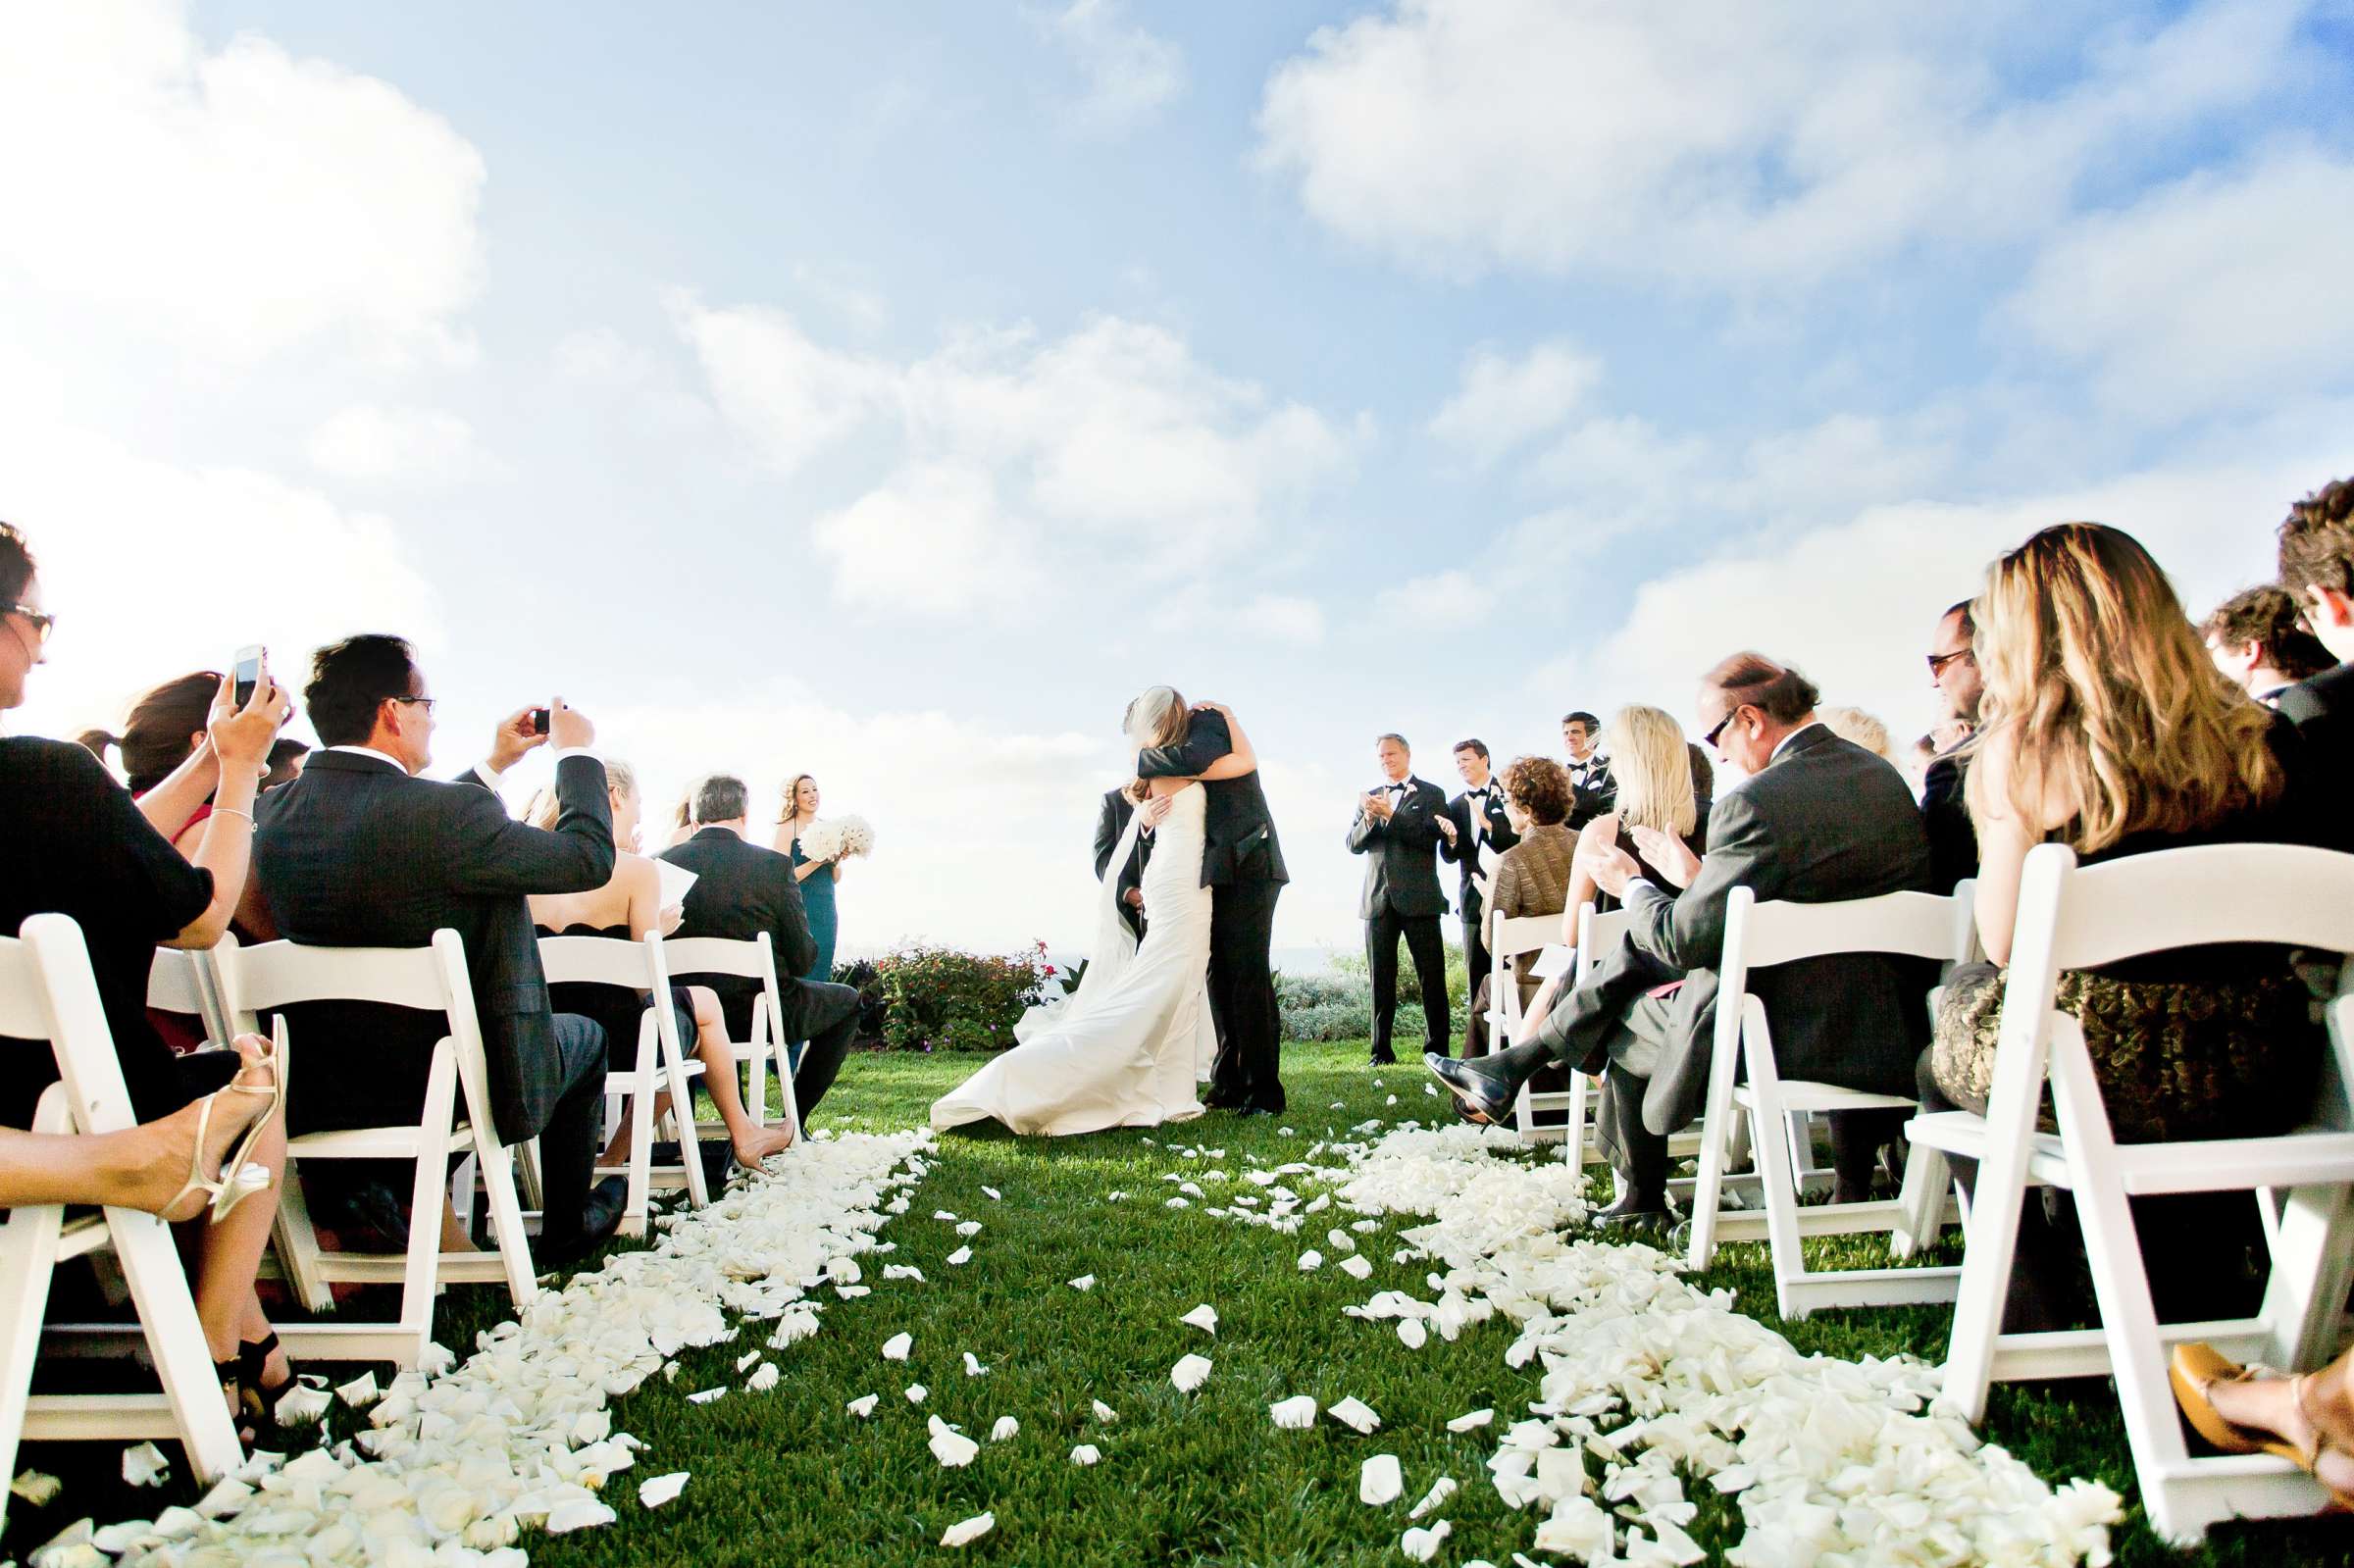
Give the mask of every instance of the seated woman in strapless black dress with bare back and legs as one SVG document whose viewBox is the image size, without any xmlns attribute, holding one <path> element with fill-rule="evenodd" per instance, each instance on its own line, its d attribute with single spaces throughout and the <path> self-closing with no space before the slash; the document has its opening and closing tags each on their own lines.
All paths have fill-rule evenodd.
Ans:
<svg viewBox="0 0 2354 1568">
<path fill-rule="evenodd" d="M 614 866 L 612 881 L 596 892 L 534 892 L 532 925 L 544 937 L 619 937 L 645 942 L 647 932 L 664 935 L 678 930 L 678 906 L 661 906 L 661 873 L 645 855 L 638 855 L 638 775 L 629 763 L 605 758 L 605 798 L 612 803 Z M 532 798 L 525 822 L 556 831 L 563 822 L 563 798 L 544 789 Z M 626 848 L 624 848 L 626 845 Z M 558 1012 L 579 1012 L 605 1029 L 607 1067 L 617 1074 L 638 1071 L 638 1022 L 645 1015 L 645 994 L 626 986 L 556 984 L 548 1001 Z M 791 1128 L 753 1125 L 744 1111 L 744 1095 L 737 1088 L 734 1052 L 727 1050 L 727 1022 L 720 1017 L 720 998 L 711 986 L 671 986 L 671 1010 L 678 1015 L 678 1038 L 704 1064 L 704 1092 L 718 1107 L 727 1125 L 727 1142 L 737 1163 L 758 1170 L 760 1161 L 793 1147 Z M 664 1097 L 666 1099 L 666 1097 Z M 680 1121 L 692 1118 L 694 1107 L 678 1107 Z M 659 1107 L 657 1107 L 659 1116 Z M 629 1121 L 614 1144 L 605 1149 L 605 1165 L 621 1165 L 631 1156 Z"/>
</svg>

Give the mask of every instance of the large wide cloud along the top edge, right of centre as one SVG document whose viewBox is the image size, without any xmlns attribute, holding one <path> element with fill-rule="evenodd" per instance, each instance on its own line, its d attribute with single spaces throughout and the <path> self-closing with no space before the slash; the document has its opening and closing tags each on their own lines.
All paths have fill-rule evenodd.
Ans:
<svg viewBox="0 0 2354 1568">
<path fill-rule="evenodd" d="M 2295 80 L 2305 9 L 1396 0 L 1269 78 L 1259 165 L 1415 266 L 1813 283 L 2032 235 Z"/>
</svg>

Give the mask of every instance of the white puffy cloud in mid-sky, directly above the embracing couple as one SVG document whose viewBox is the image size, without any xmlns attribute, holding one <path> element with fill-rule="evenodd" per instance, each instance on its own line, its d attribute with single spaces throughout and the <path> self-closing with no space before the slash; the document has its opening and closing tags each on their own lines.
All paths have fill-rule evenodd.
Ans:
<svg viewBox="0 0 2354 1568">
<path fill-rule="evenodd" d="M 1354 450 L 1146 323 L 963 332 L 897 365 L 822 348 L 779 311 L 678 308 L 720 412 L 777 466 L 885 438 L 857 450 L 880 478 L 817 527 L 855 605 L 1015 612 L 1048 560 L 1186 579 L 1255 546 Z M 1269 622 L 1306 629 L 1297 607 Z"/>
</svg>

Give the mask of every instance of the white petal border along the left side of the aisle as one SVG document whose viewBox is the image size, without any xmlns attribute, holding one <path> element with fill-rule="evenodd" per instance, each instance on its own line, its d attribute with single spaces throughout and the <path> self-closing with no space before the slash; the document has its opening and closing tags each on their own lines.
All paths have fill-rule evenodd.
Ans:
<svg viewBox="0 0 2354 1568">
<path fill-rule="evenodd" d="M 676 1351 L 758 1323 L 774 1323 L 756 1340 L 767 1349 L 817 1333 L 810 1293 L 859 1278 L 852 1257 L 876 1250 L 887 1212 L 906 1212 L 904 1196 L 890 1210 L 885 1198 L 923 1182 L 932 1147 L 930 1130 L 805 1140 L 779 1170 L 664 1217 L 654 1248 L 544 1290 L 518 1321 L 485 1330 L 457 1370 L 395 1377 L 355 1441 L 275 1469 L 247 1464 L 195 1509 L 118 1528 L 122 1561 L 520 1568 L 525 1528 L 612 1519 L 596 1490 L 643 1443 L 612 1431 L 605 1401 L 664 1373 Z"/>
</svg>

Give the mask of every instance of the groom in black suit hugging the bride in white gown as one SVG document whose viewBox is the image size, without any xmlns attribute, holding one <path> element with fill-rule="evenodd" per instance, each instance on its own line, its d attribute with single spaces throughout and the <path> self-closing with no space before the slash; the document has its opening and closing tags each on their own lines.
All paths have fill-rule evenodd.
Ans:
<svg viewBox="0 0 2354 1568">
<path fill-rule="evenodd" d="M 1142 751 L 1137 775 L 1193 779 L 1233 751 L 1233 732 L 1215 706 L 1193 706 L 1182 746 Z M 1276 935 L 1276 897 L 1290 873 L 1259 775 L 1210 779 L 1203 789 L 1201 881 L 1210 888 L 1210 1012 L 1217 1019 L 1217 1059 L 1203 1102 L 1243 1116 L 1274 1116 L 1283 1109 L 1283 1074 L 1266 949 Z"/>
</svg>

